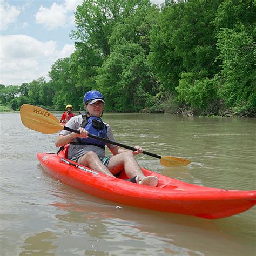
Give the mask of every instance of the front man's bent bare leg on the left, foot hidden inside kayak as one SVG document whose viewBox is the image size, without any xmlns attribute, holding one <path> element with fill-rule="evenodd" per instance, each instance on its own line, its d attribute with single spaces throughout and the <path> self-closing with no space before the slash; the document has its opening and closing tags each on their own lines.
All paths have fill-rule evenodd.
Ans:
<svg viewBox="0 0 256 256">
<path fill-rule="evenodd" d="M 77 161 L 78 164 L 88 166 L 89 168 L 105 173 L 109 176 L 113 176 L 113 174 L 110 172 L 107 167 L 102 164 L 102 162 L 99 160 L 99 157 L 97 156 L 96 153 L 90 151 L 84 154 L 84 156 L 80 157 Z"/>
</svg>

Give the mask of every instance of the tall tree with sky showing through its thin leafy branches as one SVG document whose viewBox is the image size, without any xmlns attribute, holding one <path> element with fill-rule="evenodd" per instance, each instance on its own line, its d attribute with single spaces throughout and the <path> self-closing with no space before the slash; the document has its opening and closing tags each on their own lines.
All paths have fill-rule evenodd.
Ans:
<svg viewBox="0 0 256 256">
<path fill-rule="evenodd" d="M 76 104 L 77 99 L 82 104 L 86 91 L 96 89 L 98 70 L 112 51 L 109 38 L 115 26 L 123 24 L 142 6 L 150 6 L 149 0 L 87 0 L 78 6 L 75 14 L 77 30 L 72 31 L 76 51 L 70 62 L 70 77 L 77 91 Z M 58 94 L 59 100 L 64 98 L 63 93 Z"/>
</svg>

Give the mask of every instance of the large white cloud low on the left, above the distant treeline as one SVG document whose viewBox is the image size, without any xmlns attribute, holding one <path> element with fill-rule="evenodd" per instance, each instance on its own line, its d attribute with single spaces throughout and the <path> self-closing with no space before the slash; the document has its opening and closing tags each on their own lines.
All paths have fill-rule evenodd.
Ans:
<svg viewBox="0 0 256 256">
<path fill-rule="evenodd" d="M 66 44 L 57 51 L 55 41 L 41 42 L 26 35 L 0 36 L 0 84 L 21 85 L 47 76 L 58 58 L 69 57 L 75 50 Z"/>
</svg>

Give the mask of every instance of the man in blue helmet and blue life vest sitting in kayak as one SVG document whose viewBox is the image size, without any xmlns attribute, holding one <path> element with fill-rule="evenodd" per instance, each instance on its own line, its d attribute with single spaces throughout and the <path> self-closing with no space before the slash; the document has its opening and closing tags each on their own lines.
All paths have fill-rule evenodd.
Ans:
<svg viewBox="0 0 256 256">
<path fill-rule="evenodd" d="M 99 91 L 87 92 L 84 95 L 84 107 L 87 113 L 73 117 L 66 123 L 66 127 L 79 130 L 80 134 L 62 130 L 55 145 L 61 147 L 70 143 L 68 158 L 80 165 L 112 177 L 118 176 L 120 171 L 124 169 L 129 181 L 156 187 L 158 178 L 156 176 L 145 177 L 134 159 L 134 155 L 143 152 L 141 147 L 137 145 L 135 146 L 136 151 L 129 151 L 88 137 L 90 133 L 114 140 L 110 125 L 101 119 L 104 103 L 103 95 Z M 113 156 L 105 156 L 105 145 Z"/>
</svg>

